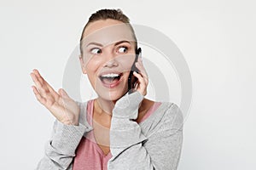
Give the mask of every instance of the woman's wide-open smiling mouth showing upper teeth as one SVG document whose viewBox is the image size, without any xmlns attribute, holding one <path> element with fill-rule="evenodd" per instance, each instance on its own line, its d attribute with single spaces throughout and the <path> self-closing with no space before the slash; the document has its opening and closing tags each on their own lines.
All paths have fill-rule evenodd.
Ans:
<svg viewBox="0 0 256 170">
<path fill-rule="evenodd" d="M 99 78 L 101 79 L 104 86 L 108 88 L 114 88 L 119 84 L 120 78 L 123 73 L 107 73 L 102 74 Z"/>
</svg>

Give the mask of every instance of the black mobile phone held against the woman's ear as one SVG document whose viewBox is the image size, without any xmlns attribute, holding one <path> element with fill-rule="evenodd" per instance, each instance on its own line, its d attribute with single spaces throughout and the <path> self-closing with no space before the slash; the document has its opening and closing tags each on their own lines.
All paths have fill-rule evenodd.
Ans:
<svg viewBox="0 0 256 170">
<path fill-rule="evenodd" d="M 132 89 L 135 88 L 135 86 L 136 86 L 137 77 L 135 77 L 133 75 L 133 71 L 136 71 L 137 73 L 139 73 L 137 67 L 135 66 L 135 63 L 137 62 L 138 57 L 141 57 L 141 55 L 142 55 L 142 48 L 137 48 L 136 49 L 136 56 L 135 56 L 135 59 L 134 59 L 134 62 L 132 64 L 132 66 L 131 66 L 131 71 L 130 71 L 130 74 L 129 74 L 129 77 L 128 77 L 128 94 L 131 94 Z"/>
</svg>

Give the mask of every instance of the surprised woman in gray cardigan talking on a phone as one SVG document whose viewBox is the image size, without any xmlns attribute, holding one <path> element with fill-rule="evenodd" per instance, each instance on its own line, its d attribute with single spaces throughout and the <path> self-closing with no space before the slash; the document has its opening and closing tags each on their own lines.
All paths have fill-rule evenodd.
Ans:
<svg viewBox="0 0 256 170">
<path fill-rule="evenodd" d="M 148 75 L 125 14 L 119 9 L 92 14 L 80 53 L 96 99 L 74 101 L 64 89 L 55 92 L 38 70 L 31 73 L 36 98 L 56 118 L 37 169 L 177 169 L 183 116 L 173 103 L 144 98 Z"/>
</svg>

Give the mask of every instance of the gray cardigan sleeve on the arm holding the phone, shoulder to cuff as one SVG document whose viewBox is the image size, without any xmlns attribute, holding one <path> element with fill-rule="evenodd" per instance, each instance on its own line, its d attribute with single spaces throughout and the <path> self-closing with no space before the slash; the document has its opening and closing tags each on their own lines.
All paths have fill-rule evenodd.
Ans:
<svg viewBox="0 0 256 170">
<path fill-rule="evenodd" d="M 176 170 L 183 142 L 183 116 L 177 105 L 169 105 L 154 133 L 148 137 L 132 119 L 137 118 L 143 96 L 130 94 L 119 99 L 110 127 L 112 158 L 108 170 Z"/>
</svg>

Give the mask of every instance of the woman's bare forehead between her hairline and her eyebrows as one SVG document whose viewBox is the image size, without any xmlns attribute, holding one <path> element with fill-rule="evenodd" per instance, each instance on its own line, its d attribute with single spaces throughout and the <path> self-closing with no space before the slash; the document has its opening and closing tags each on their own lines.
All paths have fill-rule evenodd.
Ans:
<svg viewBox="0 0 256 170">
<path fill-rule="evenodd" d="M 97 20 L 84 30 L 83 46 L 90 42 L 99 42 L 104 46 L 119 41 L 134 42 L 131 28 L 119 20 Z"/>
</svg>

